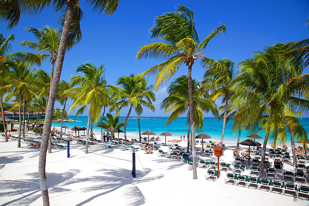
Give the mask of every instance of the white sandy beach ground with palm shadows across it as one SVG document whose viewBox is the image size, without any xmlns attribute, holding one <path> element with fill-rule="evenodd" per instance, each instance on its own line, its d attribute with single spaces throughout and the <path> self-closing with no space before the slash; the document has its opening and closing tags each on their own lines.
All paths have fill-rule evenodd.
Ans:
<svg viewBox="0 0 309 206">
<path fill-rule="evenodd" d="M 33 135 L 29 138 L 38 139 Z M 235 145 L 225 143 L 226 150 L 220 161 L 233 163 Z M 185 147 L 187 143 L 180 145 Z M 39 149 L 27 148 L 25 144 L 21 148 L 16 146 L 16 141 L 0 139 L 0 205 L 42 205 L 38 180 Z M 161 149 L 166 152 L 167 146 Z M 71 144 L 70 158 L 67 158 L 66 150 L 53 149 L 47 154 L 51 205 L 309 205 L 307 200 L 296 196 L 225 184 L 224 171 L 215 182 L 205 180 L 206 169 L 197 168 L 198 179 L 194 180 L 192 165 L 158 157 L 157 151 L 154 154 L 136 151 L 137 175 L 133 178 L 132 152 L 116 147 L 102 150 L 99 144 L 89 146 L 88 154 L 84 150 L 85 146 Z M 197 161 L 217 159 L 199 154 Z M 243 175 L 249 175 L 250 167 L 245 166 Z M 293 171 L 290 163 L 284 166 L 285 170 Z M 282 180 L 281 173 L 278 180 Z M 291 182 L 290 179 L 285 181 Z"/>
</svg>

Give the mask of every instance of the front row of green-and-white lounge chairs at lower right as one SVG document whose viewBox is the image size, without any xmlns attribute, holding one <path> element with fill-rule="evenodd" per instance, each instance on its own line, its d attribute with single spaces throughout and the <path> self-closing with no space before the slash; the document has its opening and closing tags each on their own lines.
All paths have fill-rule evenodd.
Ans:
<svg viewBox="0 0 309 206">
<path fill-rule="evenodd" d="M 208 176 L 213 176 L 208 174 Z M 243 187 L 254 188 L 258 190 L 264 190 L 269 192 L 276 192 L 282 195 L 294 196 L 296 194 L 299 198 L 299 194 L 309 195 L 309 187 L 303 185 L 296 185 L 293 183 L 286 183 L 283 181 L 276 181 L 272 179 L 263 179 L 259 177 L 252 177 L 248 175 L 239 175 L 234 173 L 227 173 L 225 183 L 231 183 L 233 185 L 241 185 Z M 206 178 L 207 179 L 207 178 Z M 214 177 L 216 180 L 216 177 Z M 265 190 L 266 187 L 266 190 Z M 274 190 L 275 189 L 275 190 Z M 288 192 L 288 194 L 286 193 Z M 292 193 L 292 194 L 290 194 Z M 306 198 L 307 199 L 307 198 Z"/>
</svg>

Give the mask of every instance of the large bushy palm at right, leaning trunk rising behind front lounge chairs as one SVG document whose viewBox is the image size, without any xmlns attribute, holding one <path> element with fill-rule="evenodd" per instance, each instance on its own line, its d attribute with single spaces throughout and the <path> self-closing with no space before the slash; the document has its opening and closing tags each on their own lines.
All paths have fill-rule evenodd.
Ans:
<svg viewBox="0 0 309 206">
<path fill-rule="evenodd" d="M 307 111 L 308 101 L 290 96 L 295 89 L 288 84 L 290 66 L 273 47 L 256 52 L 254 58 L 244 60 L 240 65 L 241 73 L 235 88 L 237 85 L 242 88 L 236 90 L 233 103 L 240 112 L 245 111 L 251 117 L 251 133 L 265 130 L 259 174 L 262 177 L 268 141 L 274 142 L 274 147 L 285 142 L 286 129 L 298 139 L 307 139 L 306 131 L 297 119 L 302 116 L 301 111 L 293 111 L 289 105 Z"/>
</svg>

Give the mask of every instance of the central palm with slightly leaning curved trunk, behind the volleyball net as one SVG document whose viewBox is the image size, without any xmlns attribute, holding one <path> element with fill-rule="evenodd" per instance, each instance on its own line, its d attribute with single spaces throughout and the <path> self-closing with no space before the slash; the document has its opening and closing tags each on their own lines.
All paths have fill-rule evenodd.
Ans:
<svg viewBox="0 0 309 206">
<path fill-rule="evenodd" d="M 144 77 L 136 77 L 133 74 L 119 77 L 117 80 L 117 85 L 121 85 L 122 87 L 122 89 L 119 89 L 121 100 L 111 105 L 110 111 L 116 110 L 116 113 L 119 114 L 119 111 L 122 108 L 130 106 L 129 112 L 125 117 L 124 125 L 125 142 L 127 142 L 126 126 L 128 124 L 128 118 L 132 108 L 141 105 L 155 111 L 155 106 L 151 102 L 155 101 L 155 94 L 152 91 L 145 90 L 147 86 L 145 86 L 146 80 Z M 142 98 L 145 98 L 146 101 L 142 100 Z"/>
</svg>

